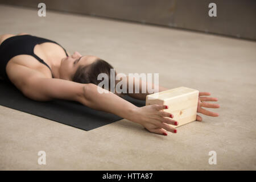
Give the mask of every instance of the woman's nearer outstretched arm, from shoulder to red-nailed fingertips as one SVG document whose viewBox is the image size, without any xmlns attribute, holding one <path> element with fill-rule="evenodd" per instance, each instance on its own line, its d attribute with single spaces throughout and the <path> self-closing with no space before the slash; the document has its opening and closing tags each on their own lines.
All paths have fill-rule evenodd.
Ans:
<svg viewBox="0 0 256 182">
<path fill-rule="evenodd" d="M 7 72 L 14 85 L 28 98 L 38 101 L 48 101 L 53 98 L 73 100 L 92 109 L 113 113 L 119 117 L 139 123 L 153 133 L 175 133 L 171 125 L 175 121 L 171 113 L 163 111 L 165 105 L 149 105 L 137 107 L 116 94 L 94 84 L 79 84 L 58 78 L 47 78 L 42 73 L 24 67 L 13 65 Z M 106 93 L 100 93 L 99 91 Z"/>
</svg>

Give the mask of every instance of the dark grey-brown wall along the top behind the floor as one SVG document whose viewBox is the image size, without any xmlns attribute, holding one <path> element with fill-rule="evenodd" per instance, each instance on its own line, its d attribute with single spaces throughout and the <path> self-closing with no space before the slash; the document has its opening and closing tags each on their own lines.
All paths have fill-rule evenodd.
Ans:
<svg viewBox="0 0 256 182">
<path fill-rule="evenodd" d="M 0 0 L 0 3 L 35 9 L 40 2 L 46 3 L 49 10 L 256 40 L 255 0 Z M 210 2 L 217 5 L 217 17 L 208 16 Z"/>
</svg>

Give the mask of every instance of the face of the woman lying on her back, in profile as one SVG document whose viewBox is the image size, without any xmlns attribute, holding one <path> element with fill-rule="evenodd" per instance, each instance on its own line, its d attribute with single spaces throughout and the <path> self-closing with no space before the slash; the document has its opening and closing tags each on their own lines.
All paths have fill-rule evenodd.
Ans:
<svg viewBox="0 0 256 182">
<path fill-rule="evenodd" d="M 79 52 L 75 51 L 73 55 L 61 59 L 60 78 L 72 80 L 73 75 L 76 73 L 76 70 L 80 65 L 89 65 L 98 59 L 100 58 L 91 55 L 82 56 Z"/>
</svg>

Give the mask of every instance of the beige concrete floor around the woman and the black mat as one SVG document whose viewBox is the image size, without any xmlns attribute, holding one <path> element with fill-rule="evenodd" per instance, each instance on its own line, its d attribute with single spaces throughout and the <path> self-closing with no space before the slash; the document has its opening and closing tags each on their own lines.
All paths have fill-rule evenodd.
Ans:
<svg viewBox="0 0 256 182">
<path fill-rule="evenodd" d="M 122 119 L 79 130 L 0 106 L 0 169 L 256 169 L 256 43 L 92 16 L 0 5 L 0 34 L 55 40 L 70 53 L 97 55 L 123 73 L 160 73 L 160 85 L 187 86 L 219 99 L 167 137 Z M 47 164 L 38 164 L 38 151 Z M 216 151 L 217 164 L 208 163 Z"/>
</svg>

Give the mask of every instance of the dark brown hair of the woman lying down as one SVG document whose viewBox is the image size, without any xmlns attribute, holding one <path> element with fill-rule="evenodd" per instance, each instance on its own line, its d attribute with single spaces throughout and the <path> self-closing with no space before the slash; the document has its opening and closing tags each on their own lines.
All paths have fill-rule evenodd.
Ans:
<svg viewBox="0 0 256 182">
<path fill-rule="evenodd" d="M 114 69 L 112 65 L 102 59 L 94 61 L 92 64 L 80 66 L 77 68 L 75 75 L 73 76 L 73 81 L 79 82 L 81 84 L 95 84 L 98 85 L 102 80 L 97 80 L 100 73 L 106 73 L 109 77 L 109 91 L 110 91 L 110 69 Z M 117 72 L 115 72 L 117 76 Z M 115 85 L 117 85 L 117 80 L 115 80 Z M 104 88 L 105 85 L 102 87 Z M 105 89 L 105 88 L 104 88 Z M 119 97 L 123 97 L 123 93 L 115 93 Z"/>
</svg>

